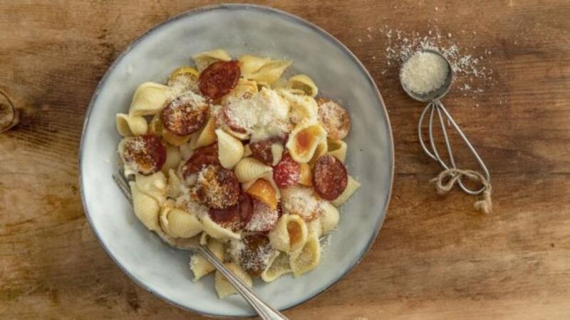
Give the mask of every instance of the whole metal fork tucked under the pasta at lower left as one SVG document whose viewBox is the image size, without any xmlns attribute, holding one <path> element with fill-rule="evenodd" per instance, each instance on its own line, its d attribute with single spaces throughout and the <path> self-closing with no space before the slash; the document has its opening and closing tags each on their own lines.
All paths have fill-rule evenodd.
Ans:
<svg viewBox="0 0 570 320">
<path fill-rule="evenodd" d="M 130 191 L 129 179 L 125 176 L 125 174 L 123 174 L 123 171 L 118 169 L 117 172 L 113 174 L 113 180 L 115 180 L 118 187 L 120 188 L 120 191 L 123 192 L 125 197 L 128 199 L 129 203 L 132 204 L 133 196 Z M 239 292 L 239 294 L 242 294 L 242 297 L 244 297 L 244 299 L 249 303 L 249 305 L 252 306 L 252 308 L 257 312 L 257 314 L 259 315 L 259 317 L 261 317 L 261 319 L 271 319 L 271 320 L 288 319 L 286 318 L 286 316 L 281 314 L 281 312 L 277 311 L 269 304 L 264 302 L 264 300 L 261 299 L 261 297 L 259 297 L 252 289 L 247 287 L 247 284 L 245 284 L 232 271 L 230 271 L 224 265 L 224 263 L 220 261 L 212 251 L 209 250 L 208 247 L 206 247 L 205 245 L 201 245 L 197 239 L 195 238 L 183 239 L 183 240 L 177 239 L 178 241 L 174 243 L 172 241 L 172 238 L 168 237 L 168 235 L 160 231 L 161 230 L 157 232 L 157 235 L 159 235 L 160 238 L 162 238 L 162 240 L 165 240 L 165 242 L 168 242 L 171 245 L 175 245 L 175 247 L 182 250 L 188 250 L 194 253 L 199 253 L 200 255 L 202 255 L 202 257 L 208 260 L 208 262 L 214 265 L 214 267 L 216 267 L 216 269 L 220 273 L 222 273 L 230 283 L 234 285 L 234 287 L 237 289 L 237 292 Z"/>
</svg>

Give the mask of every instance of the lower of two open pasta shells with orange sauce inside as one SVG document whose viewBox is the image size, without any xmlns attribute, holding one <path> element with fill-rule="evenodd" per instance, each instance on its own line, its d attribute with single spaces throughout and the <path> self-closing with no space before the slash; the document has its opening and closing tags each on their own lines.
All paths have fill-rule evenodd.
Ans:
<svg viewBox="0 0 570 320">
<path fill-rule="evenodd" d="M 299 215 L 281 215 L 277 225 L 269 231 L 269 242 L 282 252 L 301 249 L 307 240 L 307 225 Z"/>
</svg>

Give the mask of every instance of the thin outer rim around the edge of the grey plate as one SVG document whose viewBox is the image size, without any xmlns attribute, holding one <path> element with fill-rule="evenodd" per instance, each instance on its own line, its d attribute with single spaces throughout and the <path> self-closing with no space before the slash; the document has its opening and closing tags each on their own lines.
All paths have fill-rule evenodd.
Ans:
<svg viewBox="0 0 570 320">
<path fill-rule="evenodd" d="M 358 60 L 356 55 L 350 49 L 348 49 L 347 46 L 345 46 L 341 41 L 339 41 L 336 37 L 331 35 L 331 33 L 328 33 L 327 31 L 325 31 L 323 28 L 317 26 L 314 23 L 311 23 L 310 21 L 307 21 L 304 18 L 301 18 L 301 17 L 296 16 L 294 14 L 290 14 L 289 12 L 282 11 L 280 9 L 272 8 L 270 6 L 263 6 L 263 5 L 257 5 L 257 4 L 214 4 L 214 5 L 209 5 L 209 6 L 200 6 L 198 8 L 195 8 L 195 9 L 192 9 L 189 11 L 183 11 L 180 14 L 176 14 L 175 16 L 171 16 L 170 18 L 167 18 L 166 20 L 164 20 L 160 23 L 157 23 L 155 26 L 152 26 L 151 28 L 149 28 L 147 31 L 145 31 L 145 33 L 142 33 L 140 36 L 135 38 L 135 40 L 133 40 L 131 43 L 129 43 L 129 45 L 120 53 L 120 55 L 118 55 L 118 57 L 115 58 L 113 63 L 105 71 L 105 75 L 103 75 L 103 77 L 99 80 L 98 85 L 97 85 L 95 91 L 93 92 L 93 96 L 91 97 L 91 100 L 88 104 L 85 119 L 83 120 L 83 128 L 81 129 L 81 142 L 79 145 L 78 180 L 79 180 L 79 187 L 80 187 L 80 193 L 81 193 L 81 205 L 83 206 L 83 211 L 86 214 L 88 223 L 90 225 L 91 230 L 93 231 L 93 234 L 95 235 L 95 238 L 97 238 L 100 246 L 103 247 L 103 250 L 105 250 L 105 253 L 107 253 L 107 255 L 110 257 L 110 259 L 113 260 L 113 262 L 115 262 L 115 265 L 117 265 L 120 270 L 122 270 L 125 274 L 127 274 L 128 277 L 131 280 L 133 280 L 133 282 L 135 282 L 135 284 L 137 284 L 142 289 L 145 289 L 145 291 L 150 292 L 153 296 L 162 299 L 162 301 L 164 301 L 164 302 L 167 302 L 167 304 L 170 304 L 172 306 L 176 306 L 176 307 L 183 309 L 185 311 L 191 311 L 191 312 L 194 312 L 195 314 L 200 314 L 202 316 L 209 316 L 212 318 L 219 318 L 219 319 L 247 318 L 247 317 L 251 317 L 251 316 L 257 316 L 257 314 L 250 313 L 250 314 L 244 315 L 244 316 L 225 316 L 222 314 L 212 314 L 212 313 L 209 313 L 206 311 L 192 309 L 190 306 L 185 306 L 185 305 L 179 304 L 177 302 L 173 302 L 168 297 L 165 297 L 164 295 L 159 294 L 158 292 L 155 292 L 150 287 L 148 287 L 147 284 L 144 284 L 142 281 L 140 281 L 138 278 L 136 278 L 131 272 L 126 270 L 126 268 L 123 265 L 121 265 L 118 262 L 118 260 L 115 259 L 115 257 L 110 253 L 108 247 L 105 246 L 103 240 L 100 238 L 98 231 L 94 228 L 93 221 L 91 220 L 91 215 L 90 215 L 88 207 L 87 207 L 86 196 L 85 196 L 85 192 L 84 192 L 84 188 L 83 188 L 83 170 L 82 170 L 83 167 L 82 167 L 82 163 L 83 163 L 83 157 L 84 157 L 83 151 L 84 151 L 84 146 L 85 146 L 86 129 L 87 129 L 88 124 L 89 124 L 91 112 L 93 111 L 93 105 L 95 105 L 95 101 L 98 98 L 100 90 L 102 89 L 103 85 L 105 85 L 105 82 L 106 82 L 108 76 L 110 75 L 110 73 L 123 60 L 123 58 L 125 58 L 125 55 L 127 55 L 134 46 L 136 46 L 140 41 L 143 41 L 153 31 L 155 31 L 159 28 L 162 28 L 163 26 L 166 26 L 167 24 L 172 23 L 174 21 L 177 21 L 181 18 L 187 18 L 189 16 L 202 14 L 202 13 L 207 12 L 207 11 L 216 11 L 216 10 L 229 10 L 229 11 L 254 10 L 254 11 L 260 11 L 260 12 L 266 13 L 266 14 L 276 14 L 277 16 L 287 18 L 290 21 L 293 21 L 294 23 L 299 23 L 299 24 L 306 26 L 308 28 L 311 28 L 312 30 L 319 33 L 321 36 L 323 36 L 323 38 L 326 38 L 327 41 L 333 43 L 333 45 L 337 46 L 339 49 L 341 49 L 343 51 L 343 53 L 348 55 L 348 57 L 351 58 L 356 63 L 356 65 L 360 69 L 361 73 L 363 73 L 363 75 L 366 76 L 368 82 L 370 82 L 370 84 L 371 84 L 371 87 L 373 87 L 373 90 L 375 91 L 375 94 L 377 95 L 378 100 L 380 100 L 380 102 L 382 104 L 381 107 L 382 107 L 382 110 L 384 112 L 386 123 L 388 125 L 388 138 L 389 138 L 389 142 L 390 142 L 388 144 L 388 147 L 390 149 L 389 154 L 390 154 L 390 160 L 391 160 L 390 161 L 390 185 L 388 188 L 388 197 L 386 198 L 386 203 L 384 205 L 384 208 L 382 208 L 380 210 L 380 214 L 383 213 L 383 218 L 381 218 L 378 221 L 377 225 L 375 226 L 375 233 L 371 236 L 370 240 L 368 240 L 366 247 L 364 247 L 364 249 L 358 255 L 358 260 L 356 260 L 351 265 L 349 265 L 346 268 L 346 270 L 344 270 L 344 272 L 342 274 L 340 274 L 333 282 L 331 282 L 331 284 L 328 284 L 328 286 L 325 287 L 324 289 L 322 289 L 321 292 L 314 294 L 312 297 L 307 297 L 306 299 L 301 299 L 299 302 L 291 304 L 291 306 L 286 306 L 284 309 L 280 309 L 280 311 L 286 311 L 286 310 L 294 308 L 295 306 L 299 306 L 300 304 L 303 304 L 305 302 L 309 302 L 310 300 L 315 299 L 316 297 L 320 296 L 324 292 L 331 289 L 331 287 L 333 287 L 335 284 L 338 284 L 338 282 L 340 282 L 341 279 L 346 277 L 348 275 L 348 273 L 353 271 L 355 269 L 355 267 L 358 264 L 360 264 L 360 262 L 364 259 L 364 257 L 366 257 L 368 252 L 371 250 L 371 247 L 375 243 L 375 240 L 378 238 L 378 235 L 380 233 L 380 229 L 383 226 L 385 216 L 388 213 L 388 207 L 390 205 L 390 200 L 392 197 L 392 189 L 393 189 L 394 174 L 395 174 L 394 139 L 393 139 L 392 127 L 390 124 L 390 117 L 388 115 L 388 110 L 386 109 L 386 105 L 385 105 L 385 102 L 383 100 L 383 97 L 380 94 L 380 90 L 378 89 L 376 82 L 374 81 L 374 79 L 372 78 L 371 74 L 368 72 L 366 67 L 363 65 L 363 63 L 361 63 L 361 60 Z"/>
</svg>

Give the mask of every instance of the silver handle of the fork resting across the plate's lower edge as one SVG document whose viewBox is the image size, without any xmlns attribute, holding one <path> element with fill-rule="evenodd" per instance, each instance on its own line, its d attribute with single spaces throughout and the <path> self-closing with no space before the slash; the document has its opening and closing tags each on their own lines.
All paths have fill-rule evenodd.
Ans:
<svg viewBox="0 0 570 320">
<path fill-rule="evenodd" d="M 239 294 L 242 294 L 242 297 L 244 297 L 244 299 L 246 299 L 249 305 L 251 305 L 252 308 L 255 309 L 255 311 L 257 311 L 257 314 L 259 314 L 261 319 L 268 319 L 268 320 L 288 319 L 286 316 L 281 314 L 281 312 L 277 311 L 276 309 L 273 309 L 271 306 L 269 306 L 269 304 L 266 304 L 261 298 L 259 298 L 259 296 L 255 292 L 253 292 L 252 289 L 247 287 L 247 284 L 244 284 L 244 282 L 241 279 L 236 277 L 236 275 L 233 272 L 231 272 L 222 263 L 222 261 L 220 261 L 218 257 L 216 257 L 216 255 L 214 255 L 214 253 L 208 249 L 208 247 L 204 245 L 199 245 L 198 252 L 202 254 L 202 256 L 204 256 L 204 258 L 208 260 L 208 262 L 214 265 L 214 267 L 216 267 L 216 269 L 220 273 L 222 273 L 224 277 L 228 279 L 229 282 L 231 282 L 234 285 L 234 287 L 237 289 L 237 292 L 239 292 Z"/>
</svg>

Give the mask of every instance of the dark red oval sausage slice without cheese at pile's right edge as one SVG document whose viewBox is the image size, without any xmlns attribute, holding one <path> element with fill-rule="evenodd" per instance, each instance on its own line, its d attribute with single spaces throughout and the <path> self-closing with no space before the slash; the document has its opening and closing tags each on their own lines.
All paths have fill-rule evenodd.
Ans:
<svg viewBox="0 0 570 320">
<path fill-rule="evenodd" d="M 330 154 L 318 158 L 313 169 L 313 186 L 321 198 L 333 201 L 343 193 L 348 174 L 341 161 Z"/>
</svg>

